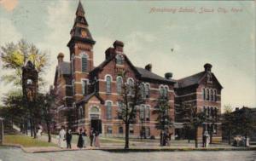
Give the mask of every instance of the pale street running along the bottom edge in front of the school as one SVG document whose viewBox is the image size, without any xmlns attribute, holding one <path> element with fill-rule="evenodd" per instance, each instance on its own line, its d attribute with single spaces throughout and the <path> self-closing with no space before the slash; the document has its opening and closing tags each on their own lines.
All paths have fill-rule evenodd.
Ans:
<svg viewBox="0 0 256 161">
<path fill-rule="evenodd" d="M 218 151 L 218 152 L 104 152 L 101 150 L 81 150 L 66 152 L 26 153 L 20 148 L 0 147 L 0 161 L 255 161 L 253 151 Z"/>
</svg>

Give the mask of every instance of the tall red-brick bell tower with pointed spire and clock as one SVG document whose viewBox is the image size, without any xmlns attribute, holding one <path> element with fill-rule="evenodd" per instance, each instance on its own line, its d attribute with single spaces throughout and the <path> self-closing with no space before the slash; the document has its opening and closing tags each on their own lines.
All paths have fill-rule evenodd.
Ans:
<svg viewBox="0 0 256 161">
<path fill-rule="evenodd" d="M 91 37 L 84 14 L 83 5 L 79 1 L 73 28 L 70 31 L 71 39 L 67 43 L 70 51 L 74 101 L 80 100 L 84 95 L 83 89 L 86 87 L 83 86 L 83 81 L 89 80 L 89 72 L 93 69 L 93 46 L 96 43 Z"/>
</svg>

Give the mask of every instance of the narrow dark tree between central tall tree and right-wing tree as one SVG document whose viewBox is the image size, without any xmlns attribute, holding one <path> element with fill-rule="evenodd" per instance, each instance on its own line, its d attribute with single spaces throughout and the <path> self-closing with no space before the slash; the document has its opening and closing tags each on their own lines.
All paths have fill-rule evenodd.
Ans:
<svg viewBox="0 0 256 161">
<path fill-rule="evenodd" d="M 153 114 L 157 114 L 156 118 L 156 128 L 161 130 L 161 134 L 168 130 L 172 126 L 172 118 L 170 116 L 171 106 L 169 105 L 168 97 L 160 95 L 157 100 L 156 106 L 154 106 Z M 164 139 L 162 135 L 160 137 L 160 146 L 164 146 Z"/>
</svg>

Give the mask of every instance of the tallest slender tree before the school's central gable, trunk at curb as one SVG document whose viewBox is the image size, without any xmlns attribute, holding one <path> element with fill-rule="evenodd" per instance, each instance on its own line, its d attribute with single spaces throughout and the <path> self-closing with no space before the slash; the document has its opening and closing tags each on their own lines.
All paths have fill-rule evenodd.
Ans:
<svg viewBox="0 0 256 161">
<path fill-rule="evenodd" d="M 118 116 L 125 124 L 125 149 L 129 149 L 130 124 L 136 123 L 138 107 L 143 104 L 141 82 L 123 83 L 119 98 Z"/>
</svg>

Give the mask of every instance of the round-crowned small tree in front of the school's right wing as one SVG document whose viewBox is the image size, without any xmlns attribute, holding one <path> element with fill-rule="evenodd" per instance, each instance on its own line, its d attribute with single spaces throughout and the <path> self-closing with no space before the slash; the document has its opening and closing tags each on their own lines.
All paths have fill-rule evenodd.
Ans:
<svg viewBox="0 0 256 161">
<path fill-rule="evenodd" d="M 205 113 L 199 111 L 193 103 L 182 103 L 180 109 L 177 109 L 177 112 L 183 116 L 184 127 L 194 130 L 195 147 L 198 147 L 197 129 L 206 122 Z"/>
</svg>

